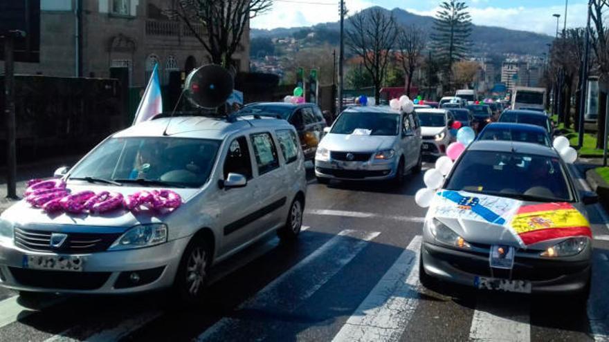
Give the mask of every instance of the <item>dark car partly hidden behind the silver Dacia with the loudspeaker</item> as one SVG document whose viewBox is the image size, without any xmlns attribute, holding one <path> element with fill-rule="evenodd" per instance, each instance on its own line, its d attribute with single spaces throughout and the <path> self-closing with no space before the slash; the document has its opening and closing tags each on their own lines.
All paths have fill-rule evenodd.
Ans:
<svg viewBox="0 0 609 342">
<path fill-rule="evenodd" d="M 260 115 L 287 120 L 298 132 L 300 146 L 306 160 L 314 160 L 317 146 L 327 127 L 322 111 L 316 104 L 290 104 L 284 102 L 257 102 L 247 104 L 237 115 Z"/>
</svg>

